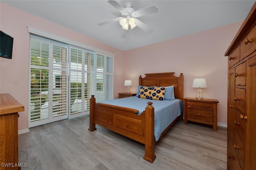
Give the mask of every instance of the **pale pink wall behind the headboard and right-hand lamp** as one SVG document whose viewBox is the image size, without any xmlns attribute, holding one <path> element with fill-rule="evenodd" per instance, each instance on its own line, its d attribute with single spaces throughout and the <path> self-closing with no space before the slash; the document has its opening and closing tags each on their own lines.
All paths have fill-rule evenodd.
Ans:
<svg viewBox="0 0 256 170">
<path fill-rule="evenodd" d="M 184 73 L 184 97 L 195 97 L 194 78 L 206 78 L 205 98 L 218 99 L 218 123 L 227 123 L 228 59 L 224 53 L 242 22 L 125 51 L 125 75 L 134 84 L 145 73 Z M 189 28 L 188 28 L 189 29 Z M 125 90 L 125 89 L 124 89 Z M 154 105 L 154 102 L 153 102 Z"/>
</svg>

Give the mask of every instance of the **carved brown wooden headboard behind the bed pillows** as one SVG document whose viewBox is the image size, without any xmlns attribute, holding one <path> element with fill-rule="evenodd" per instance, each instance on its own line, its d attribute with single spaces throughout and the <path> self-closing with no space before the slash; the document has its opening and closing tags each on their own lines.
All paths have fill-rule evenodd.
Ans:
<svg viewBox="0 0 256 170">
<path fill-rule="evenodd" d="M 180 99 L 183 102 L 183 73 L 180 77 L 174 76 L 175 72 L 169 73 L 148 73 L 146 77 L 139 77 L 139 85 L 141 86 L 170 86 L 174 85 L 175 99 Z"/>
</svg>

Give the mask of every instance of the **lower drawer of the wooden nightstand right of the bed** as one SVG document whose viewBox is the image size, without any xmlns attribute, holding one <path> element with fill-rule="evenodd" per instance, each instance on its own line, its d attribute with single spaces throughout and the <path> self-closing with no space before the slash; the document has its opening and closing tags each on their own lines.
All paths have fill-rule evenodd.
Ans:
<svg viewBox="0 0 256 170">
<path fill-rule="evenodd" d="M 200 122 L 212 122 L 212 111 L 188 109 L 188 120 Z M 199 120 L 199 121 L 198 121 Z"/>
</svg>

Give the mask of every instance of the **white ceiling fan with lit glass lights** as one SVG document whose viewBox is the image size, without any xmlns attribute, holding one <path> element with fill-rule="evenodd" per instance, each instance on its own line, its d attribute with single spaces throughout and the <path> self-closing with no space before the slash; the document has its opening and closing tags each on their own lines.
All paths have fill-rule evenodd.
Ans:
<svg viewBox="0 0 256 170">
<path fill-rule="evenodd" d="M 127 32 L 130 32 L 136 26 L 138 26 L 139 28 L 144 30 L 146 33 L 153 32 L 153 30 L 150 27 L 148 27 L 146 24 L 144 24 L 137 18 L 140 16 L 158 12 L 158 8 L 156 6 L 152 5 L 147 8 L 143 8 L 143 9 L 135 11 L 134 8 L 132 8 L 132 3 L 130 3 L 130 2 L 125 3 L 124 8 L 120 4 L 118 4 L 118 2 L 116 2 L 115 0 L 108 0 L 108 3 L 110 3 L 112 6 L 114 6 L 114 8 L 116 8 L 118 11 L 120 11 L 121 16 L 118 18 L 100 22 L 100 23 L 98 23 L 98 26 L 103 26 L 105 24 L 110 24 L 112 22 L 119 21 L 119 24 L 123 28 L 122 35 L 121 35 L 121 37 L 123 37 L 123 38 L 126 37 Z"/>
</svg>

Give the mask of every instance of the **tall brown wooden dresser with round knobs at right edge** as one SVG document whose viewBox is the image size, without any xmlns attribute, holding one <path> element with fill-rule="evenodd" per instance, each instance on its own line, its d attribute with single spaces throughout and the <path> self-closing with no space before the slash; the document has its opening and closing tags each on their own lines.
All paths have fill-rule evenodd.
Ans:
<svg viewBox="0 0 256 170">
<path fill-rule="evenodd" d="M 256 168 L 256 3 L 228 47 L 228 170 Z"/>
</svg>

